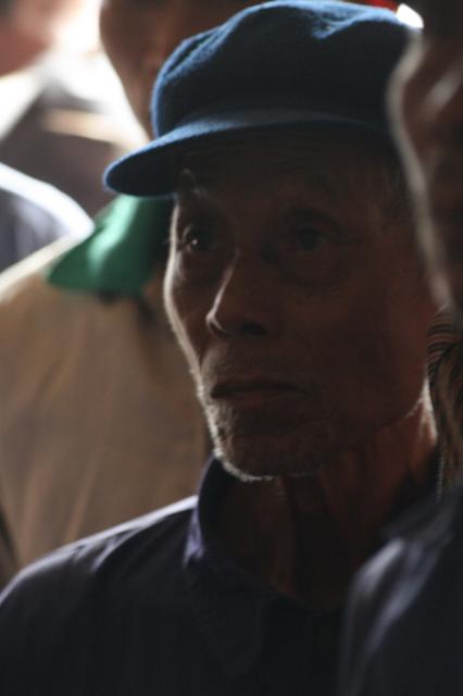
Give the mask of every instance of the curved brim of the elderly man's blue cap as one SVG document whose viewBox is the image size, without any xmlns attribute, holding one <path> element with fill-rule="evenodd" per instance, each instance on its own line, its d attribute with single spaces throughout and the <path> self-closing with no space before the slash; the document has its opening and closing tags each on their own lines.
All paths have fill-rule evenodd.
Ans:
<svg viewBox="0 0 463 696">
<path fill-rule="evenodd" d="M 179 159 L 193 147 L 224 135 L 310 126 L 351 127 L 388 136 L 372 114 L 333 114 L 308 109 L 255 109 L 202 115 L 128 154 L 105 172 L 108 188 L 129 196 L 165 196 L 175 190 Z"/>
</svg>

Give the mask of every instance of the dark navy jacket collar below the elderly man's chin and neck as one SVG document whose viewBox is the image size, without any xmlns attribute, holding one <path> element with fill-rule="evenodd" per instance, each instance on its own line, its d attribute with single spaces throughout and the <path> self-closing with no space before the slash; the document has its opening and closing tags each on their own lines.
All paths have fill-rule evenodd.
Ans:
<svg viewBox="0 0 463 696">
<path fill-rule="evenodd" d="M 223 548 L 214 526 L 232 481 L 212 460 L 191 515 L 184 560 L 191 610 L 208 649 L 227 674 L 238 678 L 260 658 L 275 611 L 297 613 L 309 624 L 314 616 L 240 569 Z"/>
</svg>

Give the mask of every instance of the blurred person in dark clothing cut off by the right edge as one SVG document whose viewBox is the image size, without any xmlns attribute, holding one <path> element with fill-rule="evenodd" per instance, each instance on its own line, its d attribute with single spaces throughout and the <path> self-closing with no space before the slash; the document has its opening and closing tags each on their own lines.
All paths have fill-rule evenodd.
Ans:
<svg viewBox="0 0 463 696">
<path fill-rule="evenodd" d="M 425 21 L 392 85 L 397 133 L 436 293 L 451 311 L 430 334 L 433 400 L 447 459 L 443 484 L 461 478 L 463 5 L 417 2 Z M 452 323 L 452 314 L 455 318 Z M 353 588 L 341 696 L 463 693 L 462 488 L 395 526 Z"/>
</svg>

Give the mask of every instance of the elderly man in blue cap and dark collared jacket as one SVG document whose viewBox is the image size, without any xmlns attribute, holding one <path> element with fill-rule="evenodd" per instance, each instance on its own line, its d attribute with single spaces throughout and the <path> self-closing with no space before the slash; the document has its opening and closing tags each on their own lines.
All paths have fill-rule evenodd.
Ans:
<svg viewBox="0 0 463 696">
<path fill-rule="evenodd" d="M 437 474 L 434 303 L 383 109 L 406 37 L 275 2 L 167 62 L 159 138 L 108 183 L 175 194 L 165 301 L 215 458 L 198 500 L 10 584 L 2 693 L 330 693 L 351 574 Z"/>
</svg>

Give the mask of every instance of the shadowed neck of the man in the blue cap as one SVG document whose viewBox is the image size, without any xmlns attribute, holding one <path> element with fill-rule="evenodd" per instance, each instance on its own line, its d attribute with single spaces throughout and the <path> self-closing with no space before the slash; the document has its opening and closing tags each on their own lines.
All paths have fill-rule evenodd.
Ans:
<svg viewBox="0 0 463 696">
<path fill-rule="evenodd" d="M 429 490 L 435 462 L 434 421 L 423 403 L 315 475 L 237 481 L 221 508 L 221 535 L 265 583 L 314 610 L 334 609 L 379 530 Z"/>
</svg>

